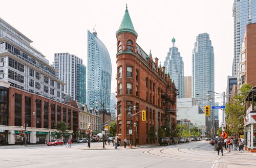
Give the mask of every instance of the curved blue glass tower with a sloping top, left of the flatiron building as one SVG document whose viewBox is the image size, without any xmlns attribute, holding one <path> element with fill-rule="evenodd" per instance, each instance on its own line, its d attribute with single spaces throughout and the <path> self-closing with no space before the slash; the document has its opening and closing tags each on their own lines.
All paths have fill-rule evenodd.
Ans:
<svg viewBox="0 0 256 168">
<path fill-rule="evenodd" d="M 97 33 L 88 31 L 88 96 L 87 104 L 95 108 L 95 102 L 105 103 L 105 109 L 110 108 L 111 91 L 111 60 L 105 45 L 98 39 Z"/>
</svg>

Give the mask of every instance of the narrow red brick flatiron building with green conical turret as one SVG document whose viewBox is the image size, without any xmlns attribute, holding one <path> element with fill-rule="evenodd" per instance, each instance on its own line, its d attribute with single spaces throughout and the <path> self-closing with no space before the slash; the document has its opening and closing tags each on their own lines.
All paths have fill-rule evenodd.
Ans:
<svg viewBox="0 0 256 168">
<path fill-rule="evenodd" d="M 146 110 L 146 121 L 142 121 L 141 112 L 132 117 L 132 143 L 136 137 L 136 144 L 148 144 L 150 126 L 157 129 L 167 123 L 173 129 L 176 125 L 177 90 L 165 67 L 136 43 L 137 33 L 127 7 L 116 38 L 117 135 L 121 142 L 130 139 L 130 112 Z"/>
</svg>

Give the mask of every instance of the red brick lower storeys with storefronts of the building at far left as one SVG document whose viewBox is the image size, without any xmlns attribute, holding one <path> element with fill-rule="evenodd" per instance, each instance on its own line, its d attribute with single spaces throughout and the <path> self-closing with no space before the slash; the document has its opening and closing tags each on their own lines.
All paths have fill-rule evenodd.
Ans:
<svg viewBox="0 0 256 168">
<path fill-rule="evenodd" d="M 70 127 L 69 138 L 75 137 L 79 129 L 79 109 L 44 96 L 30 93 L 0 81 L 0 139 L 2 145 L 20 144 L 24 137 L 20 136 L 21 127 L 28 124 L 28 144 L 49 142 L 55 137 L 55 124 L 65 121 Z"/>
</svg>

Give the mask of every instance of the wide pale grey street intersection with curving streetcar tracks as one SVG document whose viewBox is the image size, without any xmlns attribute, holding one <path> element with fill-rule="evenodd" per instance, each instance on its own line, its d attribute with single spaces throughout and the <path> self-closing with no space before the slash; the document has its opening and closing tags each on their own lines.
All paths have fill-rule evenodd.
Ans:
<svg viewBox="0 0 256 168">
<path fill-rule="evenodd" d="M 92 143 L 92 150 L 83 150 L 87 144 L 2 146 L 0 162 L 1 167 L 256 167 L 255 154 L 224 150 L 224 156 L 218 156 L 205 141 L 138 149 L 101 147 L 102 143 Z"/>
</svg>

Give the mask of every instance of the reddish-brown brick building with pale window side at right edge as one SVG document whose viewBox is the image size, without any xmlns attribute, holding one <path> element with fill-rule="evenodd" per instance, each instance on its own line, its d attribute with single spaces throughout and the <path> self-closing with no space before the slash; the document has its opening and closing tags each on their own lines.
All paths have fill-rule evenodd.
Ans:
<svg viewBox="0 0 256 168">
<path fill-rule="evenodd" d="M 237 88 L 240 89 L 245 83 L 256 86 L 256 23 L 247 24 L 239 55 Z"/>
</svg>

